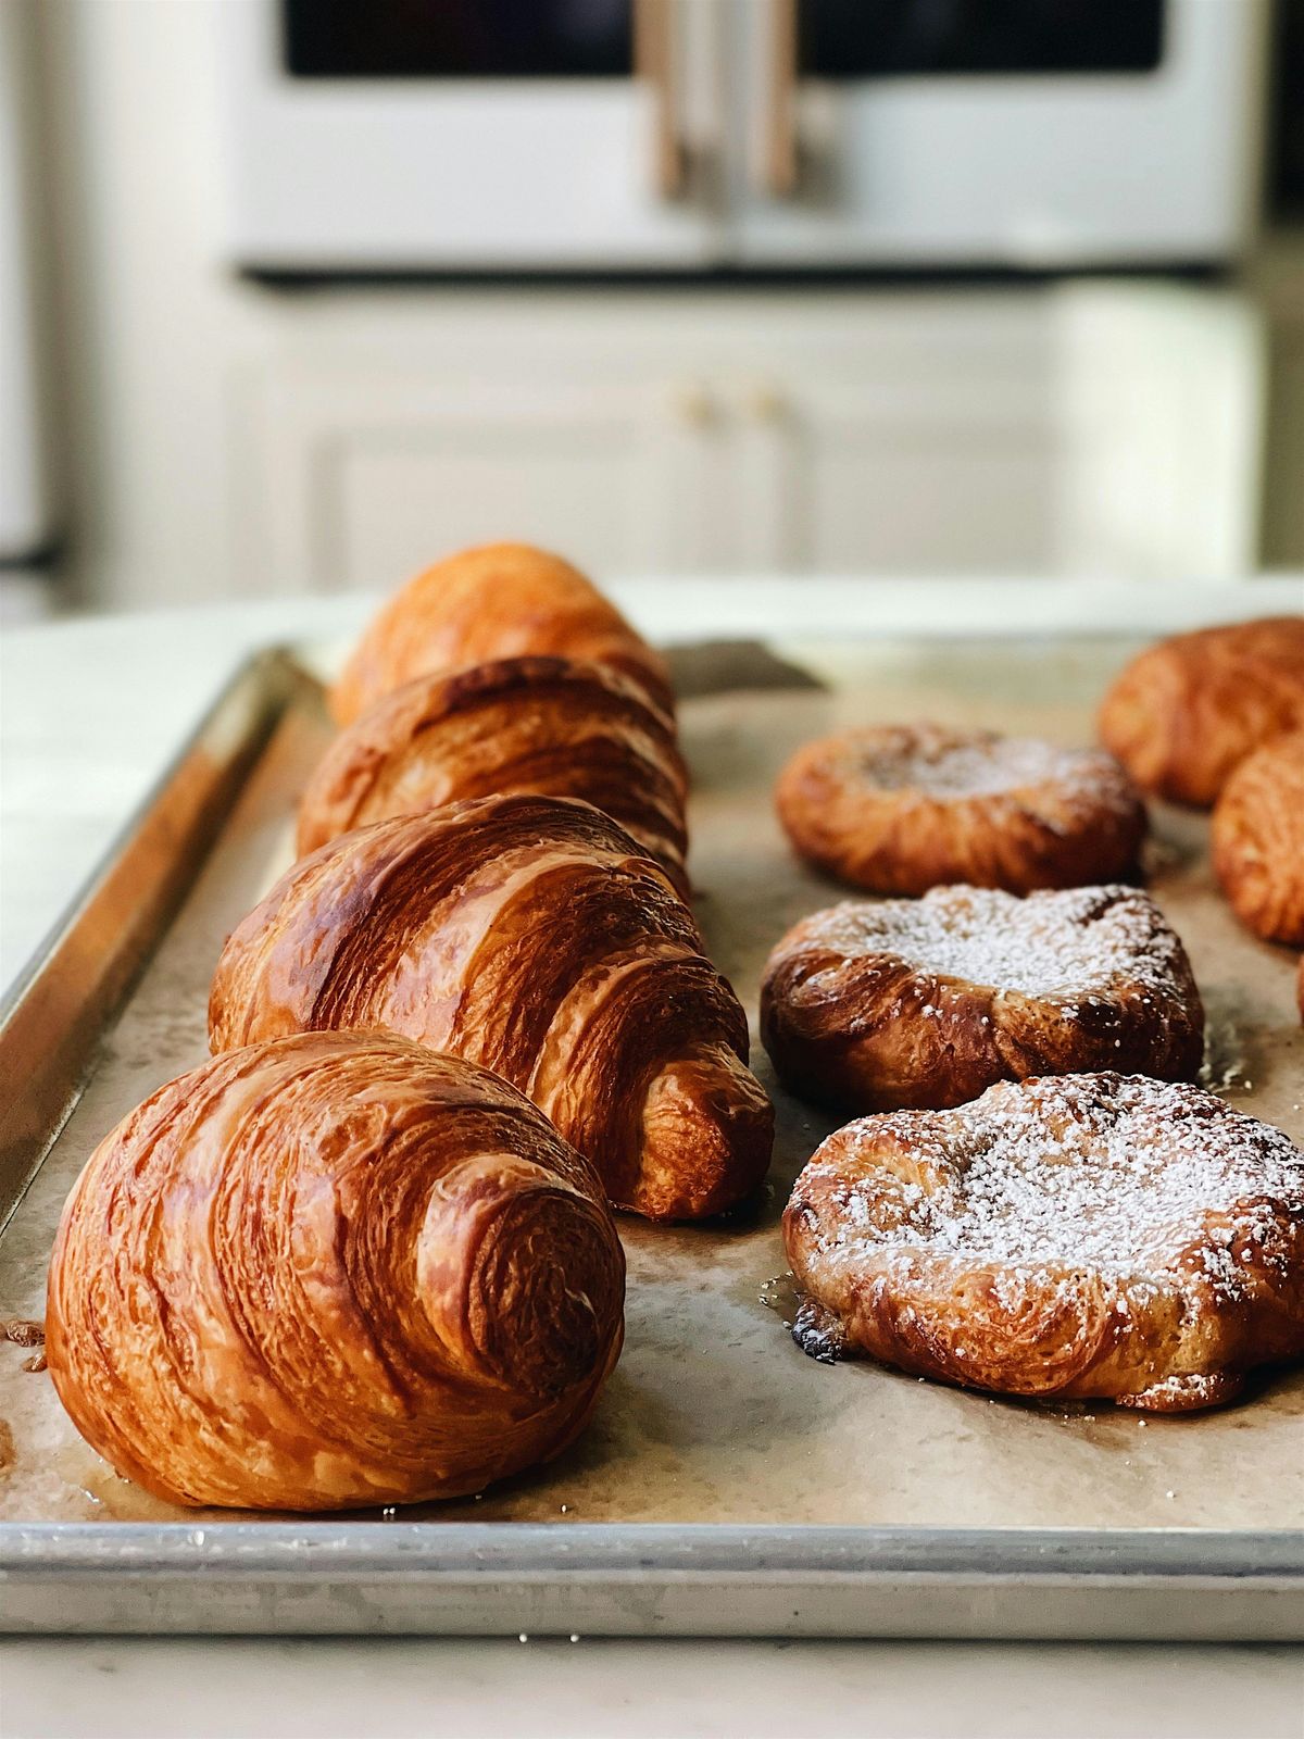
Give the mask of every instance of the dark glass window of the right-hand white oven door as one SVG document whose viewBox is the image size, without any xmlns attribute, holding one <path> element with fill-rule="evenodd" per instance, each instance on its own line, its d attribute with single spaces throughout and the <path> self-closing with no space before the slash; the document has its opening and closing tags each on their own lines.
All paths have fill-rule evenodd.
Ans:
<svg viewBox="0 0 1304 1739">
<path fill-rule="evenodd" d="M 1165 0 L 802 0 L 812 78 L 1149 73 Z"/>
</svg>

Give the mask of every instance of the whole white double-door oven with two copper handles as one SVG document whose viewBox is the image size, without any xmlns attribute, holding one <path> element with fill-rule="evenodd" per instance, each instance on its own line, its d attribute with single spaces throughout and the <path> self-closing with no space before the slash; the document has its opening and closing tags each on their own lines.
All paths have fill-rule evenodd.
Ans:
<svg viewBox="0 0 1304 1739">
<path fill-rule="evenodd" d="M 228 0 L 263 271 L 1203 264 L 1261 0 Z"/>
</svg>

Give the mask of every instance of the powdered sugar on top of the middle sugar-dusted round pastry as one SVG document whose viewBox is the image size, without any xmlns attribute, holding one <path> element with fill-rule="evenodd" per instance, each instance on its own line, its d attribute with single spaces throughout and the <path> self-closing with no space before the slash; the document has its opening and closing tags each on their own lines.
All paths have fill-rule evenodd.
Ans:
<svg viewBox="0 0 1304 1739">
<path fill-rule="evenodd" d="M 1186 951 L 1154 901 L 1121 885 L 1024 899 L 937 887 L 918 901 L 845 901 L 808 918 L 802 939 L 1033 996 L 1106 995 L 1125 983 L 1170 1002 L 1189 986 Z"/>
</svg>

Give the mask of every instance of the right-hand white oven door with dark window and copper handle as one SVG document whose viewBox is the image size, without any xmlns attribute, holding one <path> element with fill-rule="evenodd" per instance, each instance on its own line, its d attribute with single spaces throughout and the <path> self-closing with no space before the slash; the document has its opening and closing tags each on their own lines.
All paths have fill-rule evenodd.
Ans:
<svg viewBox="0 0 1304 1739">
<path fill-rule="evenodd" d="M 1229 259 L 1261 0 L 735 0 L 739 259 Z"/>
</svg>

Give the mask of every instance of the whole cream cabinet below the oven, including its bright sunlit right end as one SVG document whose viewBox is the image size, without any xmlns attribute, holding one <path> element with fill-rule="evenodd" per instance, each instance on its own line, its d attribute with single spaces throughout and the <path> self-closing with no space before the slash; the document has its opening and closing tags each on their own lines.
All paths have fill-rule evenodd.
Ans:
<svg viewBox="0 0 1304 1739">
<path fill-rule="evenodd" d="M 243 584 L 523 537 L 598 576 L 1255 563 L 1233 292 L 325 297 L 240 376 Z"/>
</svg>

